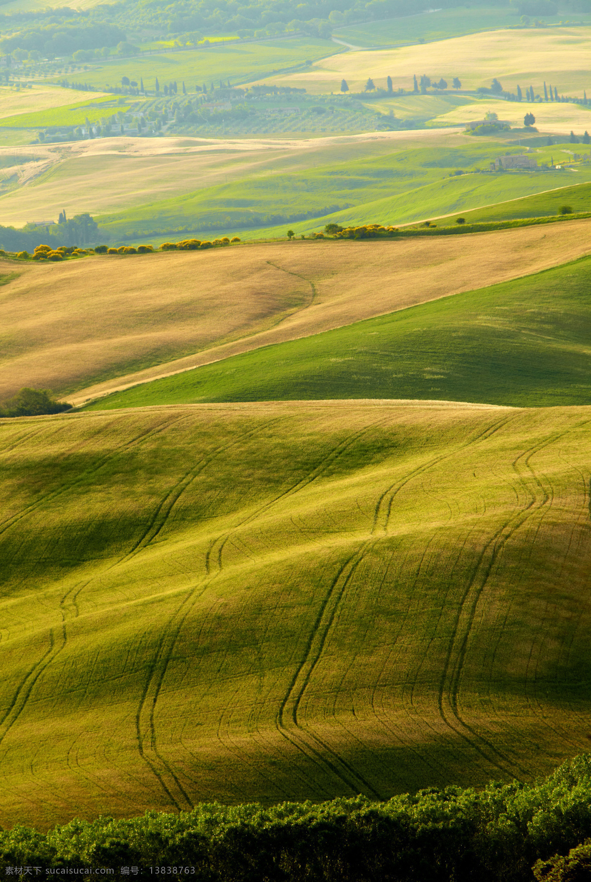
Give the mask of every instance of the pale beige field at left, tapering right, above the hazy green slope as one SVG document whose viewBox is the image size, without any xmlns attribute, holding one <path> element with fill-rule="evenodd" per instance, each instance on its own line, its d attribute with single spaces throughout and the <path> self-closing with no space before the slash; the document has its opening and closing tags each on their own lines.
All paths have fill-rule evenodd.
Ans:
<svg viewBox="0 0 591 882">
<path fill-rule="evenodd" d="M 245 175 L 370 158 L 394 147 L 444 146 L 452 137 L 464 143 L 467 136 L 433 129 L 300 139 L 97 138 L 0 148 L 0 158 L 26 158 L 23 168 L 4 170 L 4 175 L 22 176 L 25 185 L 0 197 L 0 223 L 19 227 L 27 221 L 56 220 L 62 208 L 68 216 L 122 211 Z"/>
</svg>

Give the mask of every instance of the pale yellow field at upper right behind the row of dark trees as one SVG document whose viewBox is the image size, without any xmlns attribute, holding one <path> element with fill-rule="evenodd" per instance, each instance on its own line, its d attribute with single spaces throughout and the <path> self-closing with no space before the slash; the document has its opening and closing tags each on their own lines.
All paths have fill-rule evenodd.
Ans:
<svg viewBox="0 0 591 882">
<path fill-rule="evenodd" d="M 510 92 L 534 86 L 540 93 L 542 81 L 557 86 L 559 94 L 582 97 L 591 94 L 589 71 L 589 27 L 548 27 L 500 30 L 469 34 L 400 49 L 344 52 L 324 58 L 309 71 L 284 77 L 273 74 L 273 83 L 305 86 L 311 93 L 339 92 L 345 78 L 352 92 L 361 91 L 367 78 L 385 87 L 393 78 L 394 88 L 412 89 L 413 74 L 445 78 L 451 85 L 459 77 L 465 89 L 490 86 L 493 77 Z M 265 80 L 271 82 L 271 79 Z M 263 80 L 261 80 L 263 82 Z"/>
</svg>

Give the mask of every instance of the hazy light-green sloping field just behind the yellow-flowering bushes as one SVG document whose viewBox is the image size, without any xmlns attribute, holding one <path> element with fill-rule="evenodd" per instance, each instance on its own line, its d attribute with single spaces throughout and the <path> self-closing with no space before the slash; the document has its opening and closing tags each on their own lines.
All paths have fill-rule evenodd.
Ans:
<svg viewBox="0 0 591 882">
<path fill-rule="evenodd" d="M 550 161 L 550 149 L 535 153 Z M 555 153 L 557 153 L 556 148 Z M 132 206 L 123 212 L 97 217 L 103 235 L 117 241 L 168 231 L 247 231 L 252 236 L 285 235 L 286 224 L 296 234 L 307 234 L 333 221 L 344 225 L 402 224 L 552 190 L 571 183 L 572 172 L 508 172 L 503 175 L 465 174 L 489 167 L 505 147 L 492 141 L 457 147 L 418 147 L 393 150 L 377 158 L 335 162 L 281 176 L 250 174 L 242 180 L 216 184 L 183 196 Z M 520 153 L 520 147 L 511 152 Z M 312 168 L 312 164 L 316 167 Z M 50 173 L 67 176 L 68 165 Z M 452 175 L 452 176 L 451 176 Z M 591 164 L 581 165 L 577 180 L 591 181 Z M 557 207 L 562 197 L 554 198 Z M 548 204 L 552 202 L 547 197 Z M 502 213 L 502 206 L 499 206 Z M 308 215 L 308 216 L 306 216 Z M 311 215 L 311 218 L 310 218 Z M 249 228 L 251 228 L 249 230 Z M 217 234 L 216 234 L 217 235 Z"/>
</svg>

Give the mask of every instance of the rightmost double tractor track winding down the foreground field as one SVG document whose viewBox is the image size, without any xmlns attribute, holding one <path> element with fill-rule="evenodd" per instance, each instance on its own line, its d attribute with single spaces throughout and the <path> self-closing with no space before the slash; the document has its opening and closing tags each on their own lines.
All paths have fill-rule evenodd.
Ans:
<svg viewBox="0 0 591 882">
<path fill-rule="evenodd" d="M 518 768 L 520 774 L 524 776 L 527 775 L 527 772 L 520 767 L 519 763 L 515 763 L 512 759 L 507 757 L 503 751 L 500 751 L 497 746 L 491 744 L 488 738 L 485 738 L 483 735 L 479 735 L 477 732 L 475 732 L 475 729 L 468 725 L 468 723 L 462 719 L 460 714 L 458 706 L 458 693 L 460 690 L 461 673 L 468 652 L 468 640 L 470 638 L 470 634 L 474 625 L 475 612 L 478 606 L 478 602 L 483 595 L 483 592 L 490 579 L 490 574 L 493 571 L 495 564 L 497 563 L 498 557 L 505 548 L 506 543 L 518 530 L 520 530 L 521 527 L 523 527 L 524 524 L 527 523 L 529 519 L 531 519 L 536 513 L 541 512 L 542 509 L 545 508 L 549 502 L 551 502 L 551 494 L 543 486 L 542 482 L 535 474 L 535 471 L 531 467 L 529 460 L 531 460 L 531 458 L 536 453 L 540 452 L 544 447 L 554 444 L 559 438 L 565 437 L 565 435 L 572 432 L 572 430 L 580 428 L 580 426 L 585 425 L 588 422 L 588 420 L 584 420 L 578 423 L 577 426 L 574 426 L 568 430 L 552 433 L 549 437 L 542 439 L 539 444 L 533 445 L 526 451 L 520 453 L 520 455 L 516 457 L 515 460 L 513 460 L 513 471 L 518 476 L 519 482 L 523 489 L 526 490 L 527 494 L 530 496 L 530 500 L 527 505 L 525 505 L 525 507 L 521 510 L 521 512 L 505 519 L 505 522 L 497 528 L 496 532 L 490 537 L 488 542 L 484 544 L 484 547 L 473 568 L 472 575 L 468 580 L 468 584 L 464 590 L 464 594 L 460 599 L 456 617 L 454 619 L 453 632 L 450 636 L 448 649 L 445 656 L 444 669 L 440 678 L 438 690 L 439 714 L 445 724 L 450 729 L 452 729 L 456 735 L 460 736 L 463 740 L 468 742 L 468 744 L 470 744 L 470 746 L 476 752 L 478 752 L 483 757 L 483 759 L 486 759 L 487 762 L 489 762 L 491 765 L 496 766 L 499 771 L 503 772 L 504 774 L 512 773 L 501 766 L 499 764 L 499 761 L 505 762 L 510 766 L 510 768 L 511 766 Z M 527 469 L 527 472 L 530 476 L 530 482 L 526 482 L 524 475 L 522 475 L 522 473 L 520 473 L 518 469 L 517 464 L 518 462 L 520 462 L 520 460 L 524 460 L 525 468 Z M 537 488 L 537 492 L 535 488 L 531 487 L 531 479 L 533 479 L 535 488 Z M 485 563 L 487 555 L 488 560 Z M 479 572 L 482 572 L 482 576 L 480 579 L 478 579 Z M 476 587 L 477 579 L 480 584 Z M 473 594 L 471 598 L 469 596 L 470 594 Z M 463 634 L 460 636 L 460 621 L 462 617 L 462 612 L 465 609 L 467 612 L 467 622 L 462 629 Z M 452 663 L 454 645 L 456 644 L 456 642 L 458 642 L 458 649 L 455 653 L 455 660 Z M 445 693 L 447 693 L 451 715 L 453 716 L 453 719 L 456 721 L 457 725 L 453 724 L 453 722 L 448 719 L 448 716 L 445 713 Z M 466 735 L 466 732 L 468 732 L 469 735 Z M 483 744 L 484 747 L 481 747 L 480 744 Z M 493 755 L 496 755 L 498 759 L 492 759 L 486 751 L 490 751 Z"/>
</svg>

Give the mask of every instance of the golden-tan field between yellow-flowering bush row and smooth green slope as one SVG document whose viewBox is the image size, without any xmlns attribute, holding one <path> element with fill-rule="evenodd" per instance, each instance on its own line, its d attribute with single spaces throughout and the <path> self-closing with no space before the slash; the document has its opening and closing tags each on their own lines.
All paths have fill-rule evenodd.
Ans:
<svg viewBox="0 0 591 882">
<path fill-rule="evenodd" d="M 74 403 L 587 253 L 591 221 L 401 242 L 294 242 L 0 264 L 0 400 Z M 4 339 L 3 339 L 4 338 Z M 76 392 L 75 394 L 72 392 Z"/>
</svg>

